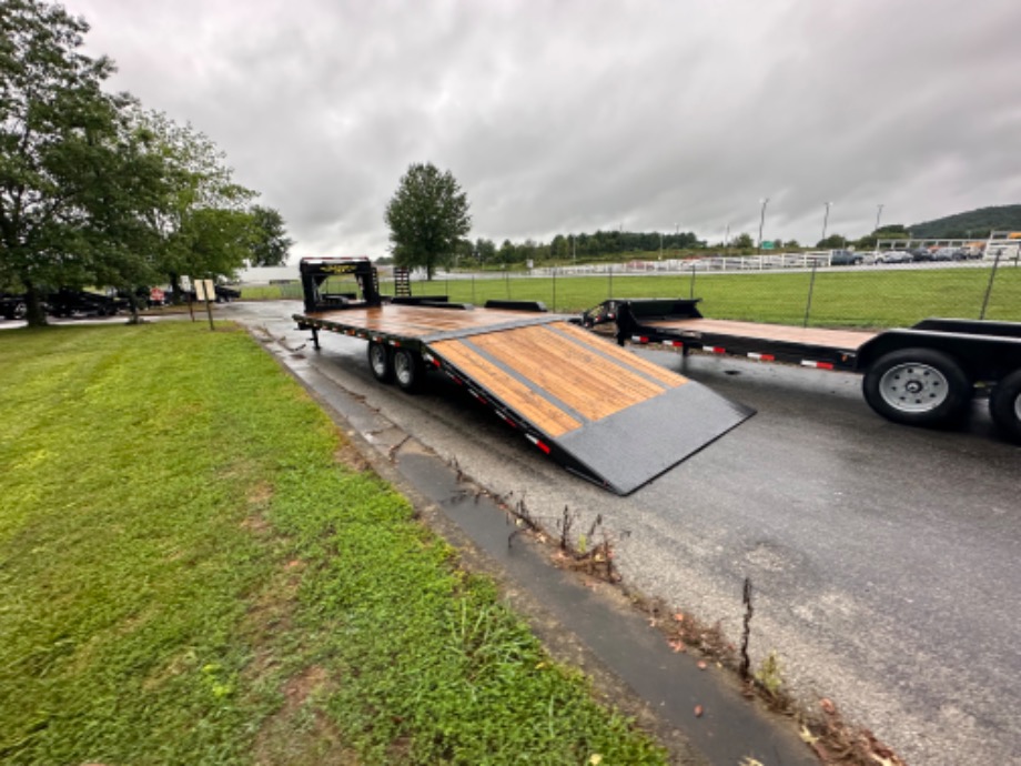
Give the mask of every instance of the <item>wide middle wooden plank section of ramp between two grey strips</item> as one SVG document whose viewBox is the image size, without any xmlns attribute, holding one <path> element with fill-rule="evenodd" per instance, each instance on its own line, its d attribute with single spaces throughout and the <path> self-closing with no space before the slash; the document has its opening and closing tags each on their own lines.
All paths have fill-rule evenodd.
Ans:
<svg viewBox="0 0 1021 766">
<path fill-rule="evenodd" d="M 471 342 L 592 421 L 667 389 L 542 325 L 474 335 Z"/>
</svg>

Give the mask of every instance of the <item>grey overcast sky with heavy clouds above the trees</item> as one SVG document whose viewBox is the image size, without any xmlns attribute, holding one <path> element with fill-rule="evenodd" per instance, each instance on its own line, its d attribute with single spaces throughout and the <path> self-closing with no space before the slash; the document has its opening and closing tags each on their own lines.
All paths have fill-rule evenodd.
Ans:
<svg viewBox="0 0 1021 766">
<path fill-rule="evenodd" d="M 300 255 L 387 252 L 413 162 L 472 238 L 710 242 L 1021 202 L 1019 0 L 69 0 L 112 88 L 190 121 Z"/>
</svg>

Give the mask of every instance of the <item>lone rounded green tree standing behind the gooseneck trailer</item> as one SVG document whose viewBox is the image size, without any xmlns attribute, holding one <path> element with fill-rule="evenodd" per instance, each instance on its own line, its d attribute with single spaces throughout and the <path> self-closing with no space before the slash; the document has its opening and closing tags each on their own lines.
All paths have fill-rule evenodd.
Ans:
<svg viewBox="0 0 1021 766">
<path fill-rule="evenodd" d="M 467 195 L 449 171 L 441 173 L 432 163 L 408 167 L 384 218 L 394 262 L 424 266 L 429 280 L 472 229 Z"/>
</svg>

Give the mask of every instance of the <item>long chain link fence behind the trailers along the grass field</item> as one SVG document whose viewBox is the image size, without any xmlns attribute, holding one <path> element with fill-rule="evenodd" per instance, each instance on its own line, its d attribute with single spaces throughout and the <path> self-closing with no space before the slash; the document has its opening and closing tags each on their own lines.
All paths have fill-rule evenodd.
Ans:
<svg viewBox="0 0 1021 766">
<path fill-rule="evenodd" d="M 774 256 L 776 258 L 776 256 Z M 542 301 L 574 314 L 608 298 L 697 298 L 706 316 L 799 326 L 910 326 L 928 316 L 1021 322 L 1019 258 L 950 263 L 832 266 L 718 259 L 635 268 L 605 264 L 530 273 L 415 273 L 412 294 L 454 302 Z M 716 262 L 718 261 L 718 262 Z M 392 278 L 391 278 L 392 279 Z M 384 293 L 393 282 L 381 276 Z"/>
</svg>

